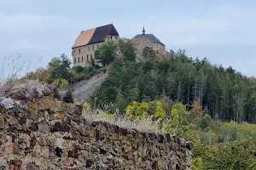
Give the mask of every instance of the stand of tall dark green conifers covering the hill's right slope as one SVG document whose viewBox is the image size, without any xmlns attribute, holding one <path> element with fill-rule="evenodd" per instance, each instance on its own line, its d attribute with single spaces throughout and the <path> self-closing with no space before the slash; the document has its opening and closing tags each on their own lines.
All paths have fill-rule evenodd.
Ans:
<svg viewBox="0 0 256 170">
<path fill-rule="evenodd" d="M 116 59 L 96 96 L 120 111 L 133 100 L 166 96 L 186 105 L 187 111 L 197 101 L 212 118 L 224 122 L 256 121 L 256 84 L 252 78 L 232 67 L 212 65 L 207 59 L 189 58 L 184 50 L 171 55 L 170 59 L 159 59 L 149 52 L 140 63 Z"/>
</svg>

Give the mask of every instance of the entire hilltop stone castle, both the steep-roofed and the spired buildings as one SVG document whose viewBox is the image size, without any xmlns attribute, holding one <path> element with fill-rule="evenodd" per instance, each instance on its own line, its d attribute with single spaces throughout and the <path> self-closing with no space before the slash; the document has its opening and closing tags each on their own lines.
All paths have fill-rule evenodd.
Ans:
<svg viewBox="0 0 256 170">
<path fill-rule="evenodd" d="M 119 33 L 113 24 L 100 26 L 86 31 L 82 31 L 72 46 L 73 66 L 90 65 L 95 60 L 95 52 L 102 42 L 108 40 L 118 40 Z M 167 58 L 166 46 L 153 34 L 146 34 L 143 26 L 143 34 L 131 38 L 131 42 L 136 48 L 137 59 L 142 59 L 143 49 L 152 48 L 156 54 Z"/>
</svg>

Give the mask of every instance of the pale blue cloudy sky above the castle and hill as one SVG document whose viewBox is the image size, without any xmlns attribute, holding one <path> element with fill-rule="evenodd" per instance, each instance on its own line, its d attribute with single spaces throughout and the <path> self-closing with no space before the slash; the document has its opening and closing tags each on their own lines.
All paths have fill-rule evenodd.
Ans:
<svg viewBox="0 0 256 170">
<path fill-rule="evenodd" d="M 153 33 L 166 50 L 256 76 L 254 0 L 0 0 L 0 67 L 5 56 L 46 67 L 82 30 L 113 23 L 119 37 Z"/>
</svg>

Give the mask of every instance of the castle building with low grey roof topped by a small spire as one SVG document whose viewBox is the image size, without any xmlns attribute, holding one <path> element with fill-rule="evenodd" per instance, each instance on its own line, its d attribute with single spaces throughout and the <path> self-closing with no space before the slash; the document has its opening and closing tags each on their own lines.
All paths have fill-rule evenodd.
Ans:
<svg viewBox="0 0 256 170">
<path fill-rule="evenodd" d="M 163 58 L 168 56 L 166 52 L 166 45 L 155 37 L 153 34 L 145 34 L 145 28 L 143 26 L 143 34 L 138 34 L 131 39 L 131 42 L 136 48 L 137 59 L 142 58 L 144 48 L 152 48 L 156 54 L 160 54 Z"/>
</svg>

